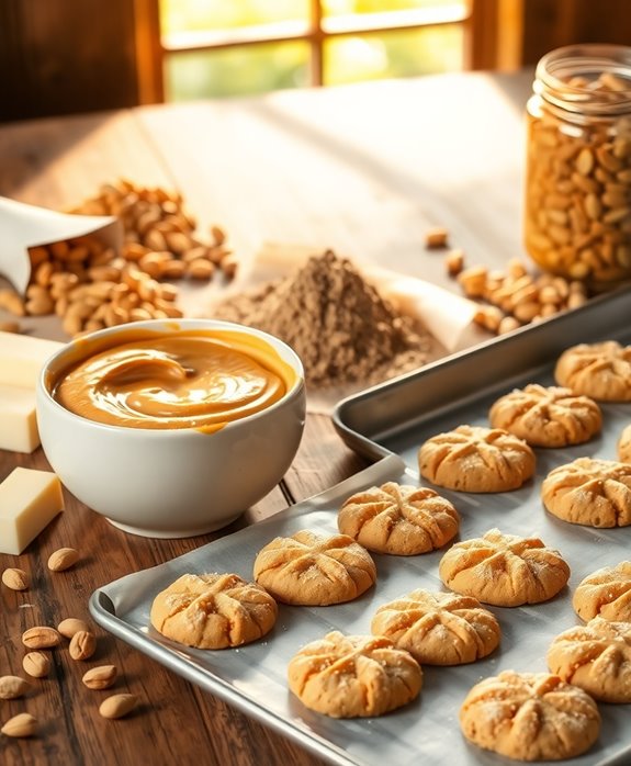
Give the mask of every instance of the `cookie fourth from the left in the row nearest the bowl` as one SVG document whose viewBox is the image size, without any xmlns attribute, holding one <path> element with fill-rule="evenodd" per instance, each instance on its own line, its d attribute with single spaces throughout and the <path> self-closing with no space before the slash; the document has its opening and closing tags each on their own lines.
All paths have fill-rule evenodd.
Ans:
<svg viewBox="0 0 631 766">
<path fill-rule="evenodd" d="M 459 492 L 508 492 L 534 473 L 534 452 L 503 428 L 459 426 L 418 451 L 420 475 Z"/>
</svg>

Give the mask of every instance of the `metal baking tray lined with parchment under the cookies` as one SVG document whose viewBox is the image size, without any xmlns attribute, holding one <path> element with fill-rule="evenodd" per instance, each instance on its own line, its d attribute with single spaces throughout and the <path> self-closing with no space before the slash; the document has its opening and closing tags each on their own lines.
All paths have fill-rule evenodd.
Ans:
<svg viewBox="0 0 631 766">
<path fill-rule="evenodd" d="M 337 430 L 374 464 L 271 519 L 99 588 L 90 599 L 92 616 L 148 656 L 330 763 L 514 763 L 470 745 L 460 733 L 458 712 L 466 691 L 488 675 L 508 668 L 545 671 L 552 638 L 579 622 L 571 606 L 572 589 L 589 572 L 630 557 L 631 527 L 596 530 L 560 521 L 543 509 L 539 485 L 554 465 L 579 455 L 615 458 L 617 436 L 631 420 L 631 404 L 605 405 L 602 432 L 587 444 L 537 450 L 537 476 L 518 491 L 472 495 L 438 489 L 460 511 L 460 539 L 493 527 L 537 534 L 562 552 L 572 577 L 568 587 L 545 604 L 491 607 L 503 629 L 499 649 L 470 665 L 425 666 L 420 697 L 387 716 L 334 720 L 314 713 L 290 695 L 286 665 L 300 646 L 329 630 L 368 633 L 376 608 L 386 601 L 414 588 L 443 589 L 438 577 L 442 551 L 409 557 L 373 554 L 378 583 L 361 598 L 331 607 L 281 606 L 277 626 L 266 639 L 235 650 L 189 650 L 164 639 L 149 624 L 150 605 L 159 590 L 187 572 L 226 571 L 251 577 L 257 552 L 275 536 L 298 529 L 337 531 L 337 509 L 353 492 L 385 481 L 418 484 L 416 453 L 428 436 L 462 423 L 483 425 L 491 402 L 502 393 L 529 382 L 551 383 L 553 361 L 571 345 L 607 338 L 629 342 L 630 319 L 631 291 L 622 290 L 340 402 L 334 413 Z M 585 755 L 565 763 L 617 766 L 631 762 L 628 707 L 600 709 L 599 741 Z"/>
</svg>

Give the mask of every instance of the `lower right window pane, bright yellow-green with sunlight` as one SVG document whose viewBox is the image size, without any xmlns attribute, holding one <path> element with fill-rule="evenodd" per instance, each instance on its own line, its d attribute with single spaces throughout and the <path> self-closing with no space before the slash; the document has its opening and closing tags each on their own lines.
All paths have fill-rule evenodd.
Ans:
<svg viewBox="0 0 631 766">
<path fill-rule="evenodd" d="M 460 71 L 461 25 L 343 36 L 325 43 L 324 80 L 339 85 L 386 77 Z"/>
</svg>

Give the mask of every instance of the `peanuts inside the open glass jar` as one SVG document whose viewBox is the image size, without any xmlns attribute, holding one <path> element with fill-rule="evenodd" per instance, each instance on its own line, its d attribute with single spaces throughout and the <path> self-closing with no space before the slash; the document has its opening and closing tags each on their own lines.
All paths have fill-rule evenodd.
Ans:
<svg viewBox="0 0 631 766">
<path fill-rule="evenodd" d="M 594 100 L 629 98 L 612 74 L 572 78 Z M 623 93 L 623 91 L 626 91 Z M 529 114 L 526 245 L 544 269 L 607 284 L 631 277 L 631 115 L 567 125 L 542 106 Z"/>
</svg>

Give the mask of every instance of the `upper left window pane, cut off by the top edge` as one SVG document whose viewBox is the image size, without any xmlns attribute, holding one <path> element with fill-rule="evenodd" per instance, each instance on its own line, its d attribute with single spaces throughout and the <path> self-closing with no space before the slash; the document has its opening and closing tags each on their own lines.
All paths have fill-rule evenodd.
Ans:
<svg viewBox="0 0 631 766">
<path fill-rule="evenodd" d="M 309 0 L 159 0 L 166 35 L 178 32 L 305 21 Z"/>
</svg>

